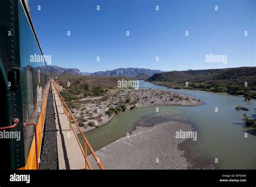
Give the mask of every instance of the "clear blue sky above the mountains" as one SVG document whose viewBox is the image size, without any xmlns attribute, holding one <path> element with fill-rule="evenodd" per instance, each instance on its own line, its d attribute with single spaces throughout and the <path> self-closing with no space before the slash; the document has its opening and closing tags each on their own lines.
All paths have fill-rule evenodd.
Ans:
<svg viewBox="0 0 256 187">
<path fill-rule="evenodd" d="M 52 65 L 91 73 L 127 67 L 170 71 L 255 66 L 255 2 L 30 0 L 30 10 Z M 227 64 L 205 62 L 210 53 L 227 55 Z"/>
</svg>

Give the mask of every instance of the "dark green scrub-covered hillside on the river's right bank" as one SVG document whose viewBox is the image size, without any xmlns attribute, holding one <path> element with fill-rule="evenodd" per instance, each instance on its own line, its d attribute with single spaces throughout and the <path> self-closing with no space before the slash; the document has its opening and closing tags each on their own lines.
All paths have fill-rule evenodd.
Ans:
<svg viewBox="0 0 256 187">
<path fill-rule="evenodd" d="M 170 71 L 151 76 L 147 81 L 173 89 L 226 92 L 256 99 L 256 67 Z"/>
</svg>

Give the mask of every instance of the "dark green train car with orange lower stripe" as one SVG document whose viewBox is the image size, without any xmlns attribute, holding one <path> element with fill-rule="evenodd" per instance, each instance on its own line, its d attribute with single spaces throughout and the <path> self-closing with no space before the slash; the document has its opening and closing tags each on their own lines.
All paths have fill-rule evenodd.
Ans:
<svg viewBox="0 0 256 187">
<path fill-rule="evenodd" d="M 0 169 L 38 169 L 50 87 L 48 67 L 28 3 L 1 0 L 0 17 Z M 42 57 L 41 61 L 32 56 Z"/>
</svg>

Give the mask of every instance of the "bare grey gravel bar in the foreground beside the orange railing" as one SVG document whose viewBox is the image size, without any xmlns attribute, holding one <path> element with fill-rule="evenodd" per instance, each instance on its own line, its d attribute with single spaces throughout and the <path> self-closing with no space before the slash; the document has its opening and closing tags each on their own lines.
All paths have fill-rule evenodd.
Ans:
<svg viewBox="0 0 256 187">
<path fill-rule="evenodd" d="M 143 124 L 143 121 L 142 121 Z M 130 137 L 120 138 L 96 151 L 105 169 L 188 169 L 191 164 L 178 148 L 185 139 L 175 138 L 176 131 L 192 131 L 190 124 L 171 120 L 155 125 L 137 124 Z M 98 169 L 89 156 L 93 169 Z"/>
</svg>

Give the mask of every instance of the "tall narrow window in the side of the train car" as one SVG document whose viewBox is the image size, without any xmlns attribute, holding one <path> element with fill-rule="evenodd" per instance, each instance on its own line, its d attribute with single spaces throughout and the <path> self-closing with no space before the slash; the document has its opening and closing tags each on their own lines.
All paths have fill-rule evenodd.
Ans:
<svg viewBox="0 0 256 187">
<path fill-rule="evenodd" d="M 26 92 L 28 100 L 28 114 L 33 112 L 33 82 L 32 82 L 32 69 L 26 68 Z"/>
</svg>

